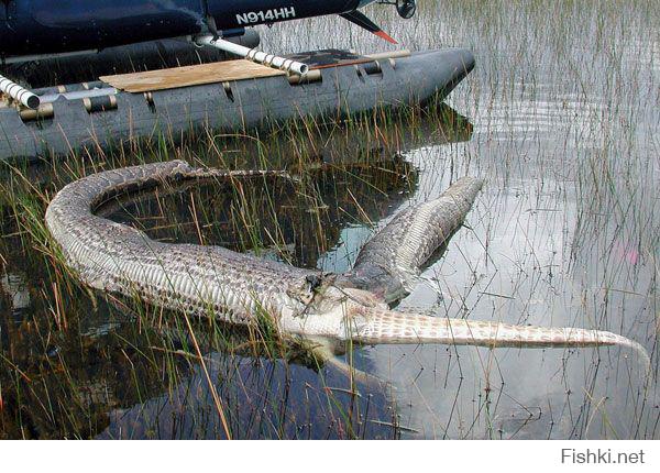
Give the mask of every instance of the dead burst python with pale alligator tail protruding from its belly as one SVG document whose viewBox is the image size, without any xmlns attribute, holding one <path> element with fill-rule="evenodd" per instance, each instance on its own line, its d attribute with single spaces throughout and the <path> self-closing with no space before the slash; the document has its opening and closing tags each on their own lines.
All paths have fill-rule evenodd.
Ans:
<svg viewBox="0 0 660 473">
<path fill-rule="evenodd" d="M 443 196 L 395 216 L 358 256 L 353 271 L 326 274 L 220 246 L 161 243 L 95 211 L 109 199 L 189 179 L 265 178 L 273 172 L 194 168 L 183 161 L 107 170 L 65 186 L 46 226 L 67 263 L 88 286 L 167 309 L 254 323 L 262 311 L 283 333 L 362 343 L 485 346 L 623 345 L 637 342 L 598 330 L 513 326 L 403 314 L 400 298 L 424 263 L 462 223 L 481 182 L 463 178 Z"/>
</svg>

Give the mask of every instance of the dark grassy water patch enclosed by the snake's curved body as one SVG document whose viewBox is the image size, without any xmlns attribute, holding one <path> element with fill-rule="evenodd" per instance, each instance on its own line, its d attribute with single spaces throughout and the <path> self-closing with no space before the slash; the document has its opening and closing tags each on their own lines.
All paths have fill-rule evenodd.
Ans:
<svg viewBox="0 0 660 473">
<path fill-rule="evenodd" d="M 378 221 L 416 187 L 415 169 L 398 154 L 352 165 L 321 163 L 302 179 L 197 184 L 99 211 L 154 240 L 218 244 L 315 267 L 342 229 Z"/>
</svg>

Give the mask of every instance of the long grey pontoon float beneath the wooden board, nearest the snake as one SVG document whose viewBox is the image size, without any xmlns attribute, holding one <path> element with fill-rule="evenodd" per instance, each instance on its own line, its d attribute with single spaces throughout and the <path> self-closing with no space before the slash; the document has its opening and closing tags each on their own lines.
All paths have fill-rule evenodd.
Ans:
<svg viewBox="0 0 660 473">
<path fill-rule="evenodd" d="M 35 160 L 87 150 L 106 150 L 131 140 L 190 131 L 244 132 L 299 118 L 342 119 L 377 107 L 399 108 L 444 98 L 474 67 L 466 50 L 413 53 L 319 69 L 320 80 L 292 84 L 284 76 L 175 87 L 131 94 L 97 84 L 100 98 L 82 86 L 55 96 L 50 117 L 30 119 L 0 109 L 0 160 Z M 107 91 L 110 95 L 103 96 Z M 105 98 L 103 98 L 105 97 Z M 106 100 L 107 99 L 107 100 Z M 106 100 L 106 102 L 103 102 Z M 96 105 L 95 105 L 96 103 Z"/>
</svg>

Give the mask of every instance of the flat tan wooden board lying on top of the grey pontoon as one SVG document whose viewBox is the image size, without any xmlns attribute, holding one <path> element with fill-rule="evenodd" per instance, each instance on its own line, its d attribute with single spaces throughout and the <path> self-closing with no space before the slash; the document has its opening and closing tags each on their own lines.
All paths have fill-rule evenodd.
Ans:
<svg viewBox="0 0 660 473">
<path fill-rule="evenodd" d="M 127 92 L 148 92 L 202 84 L 283 76 L 284 72 L 255 64 L 251 61 L 223 61 L 221 63 L 119 74 L 99 77 L 106 84 Z"/>
</svg>

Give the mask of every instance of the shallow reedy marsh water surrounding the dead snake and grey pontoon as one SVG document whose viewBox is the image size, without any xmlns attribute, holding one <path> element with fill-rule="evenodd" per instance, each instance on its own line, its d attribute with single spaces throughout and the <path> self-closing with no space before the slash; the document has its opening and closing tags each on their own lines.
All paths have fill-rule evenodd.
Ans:
<svg viewBox="0 0 660 473">
<path fill-rule="evenodd" d="M 223 438 L 217 392 L 234 438 L 660 438 L 656 2 L 419 3 L 407 22 L 367 10 L 405 47 L 474 52 L 447 105 L 179 150 L 210 165 L 277 156 L 308 170 L 296 186 L 209 183 L 102 211 L 162 241 L 342 272 L 397 210 L 481 177 L 464 228 L 399 308 L 614 331 L 646 348 L 650 375 L 618 348 L 381 345 L 346 356 L 389 385 L 351 386 L 295 346 L 213 321 L 182 330 L 176 315 L 77 286 L 16 218 L 32 208 L 23 197 L 2 204 L 0 437 Z M 387 48 L 341 19 L 262 38 L 277 52 Z M 4 176 L 4 189 L 52 195 L 76 166 L 90 167 L 43 164 Z"/>
</svg>

